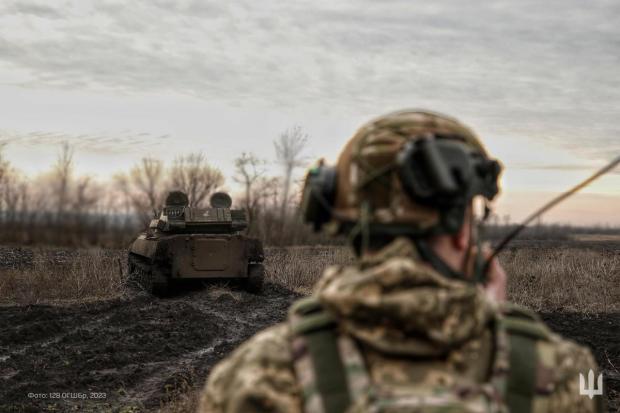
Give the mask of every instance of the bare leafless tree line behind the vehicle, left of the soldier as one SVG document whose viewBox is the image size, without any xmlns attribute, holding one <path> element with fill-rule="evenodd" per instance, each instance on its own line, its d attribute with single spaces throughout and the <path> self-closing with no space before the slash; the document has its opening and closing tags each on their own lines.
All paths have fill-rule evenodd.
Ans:
<svg viewBox="0 0 620 413">
<path fill-rule="evenodd" d="M 268 245 L 330 242 L 312 234 L 299 216 L 298 172 L 308 166 L 307 145 L 301 127 L 283 131 L 273 141 L 276 176 L 267 173 L 267 160 L 244 152 L 227 180 L 199 152 L 170 164 L 145 157 L 105 181 L 77 175 L 74 148 L 67 143 L 50 170 L 36 177 L 11 165 L 0 146 L 0 242 L 125 247 L 159 213 L 169 191 L 181 190 L 191 205 L 205 207 L 229 183 L 238 188 L 234 206 L 246 210 L 249 235 Z"/>
</svg>

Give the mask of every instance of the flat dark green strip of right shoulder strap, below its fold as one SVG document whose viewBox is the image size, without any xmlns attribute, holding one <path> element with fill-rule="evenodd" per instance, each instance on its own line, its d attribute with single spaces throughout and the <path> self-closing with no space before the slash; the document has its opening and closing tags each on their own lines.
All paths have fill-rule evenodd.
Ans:
<svg viewBox="0 0 620 413">
<path fill-rule="evenodd" d="M 510 334 L 510 370 L 506 402 L 511 412 L 531 413 L 536 390 L 536 339 Z"/>
</svg>

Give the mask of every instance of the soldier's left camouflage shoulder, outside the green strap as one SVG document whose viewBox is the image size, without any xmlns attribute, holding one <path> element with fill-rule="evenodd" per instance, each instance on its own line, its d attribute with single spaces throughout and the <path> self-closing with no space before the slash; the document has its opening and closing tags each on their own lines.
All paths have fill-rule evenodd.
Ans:
<svg viewBox="0 0 620 413">
<path fill-rule="evenodd" d="M 295 412 L 299 404 L 290 328 L 278 324 L 243 343 L 213 368 L 200 412 Z"/>
</svg>

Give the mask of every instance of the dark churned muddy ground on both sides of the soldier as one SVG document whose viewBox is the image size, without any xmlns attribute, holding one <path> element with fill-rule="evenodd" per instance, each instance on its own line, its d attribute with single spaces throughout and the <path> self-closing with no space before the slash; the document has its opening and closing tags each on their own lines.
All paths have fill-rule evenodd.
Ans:
<svg viewBox="0 0 620 413">
<path fill-rule="evenodd" d="M 285 317 L 297 295 L 266 287 L 261 296 L 202 290 L 167 299 L 0 307 L 0 412 L 156 410 L 200 387 L 241 341 Z M 609 411 L 619 411 L 620 315 L 543 318 L 594 350 Z M 29 393 L 69 397 L 34 399 Z M 106 398 L 76 398 L 91 393 Z"/>
</svg>

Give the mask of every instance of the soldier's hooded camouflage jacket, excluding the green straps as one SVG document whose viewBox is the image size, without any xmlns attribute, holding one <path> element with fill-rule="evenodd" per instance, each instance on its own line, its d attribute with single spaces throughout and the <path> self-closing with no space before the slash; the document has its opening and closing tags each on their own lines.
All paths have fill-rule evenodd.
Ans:
<svg viewBox="0 0 620 413">
<path fill-rule="evenodd" d="M 509 371 L 523 370 L 521 364 L 533 377 L 523 411 L 599 411 L 596 398 L 579 394 L 579 373 L 597 372 L 588 349 L 416 257 L 413 245 L 398 239 L 356 266 L 329 268 L 310 300 L 334 322 L 347 412 L 506 412 Z M 515 312 L 527 316 L 507 316 Z M 303 314 L 293 310 L 288 322 L 258 333 L 220 362 L 199 411 L 326 412 L 300 320 Z M 535 357 L 514 362 L 506 333 L 513 328 L 525 331 L 519 339 L 537 337 Z M 335 370 L 327 376 L 337 376 Z"/>
</svg>

